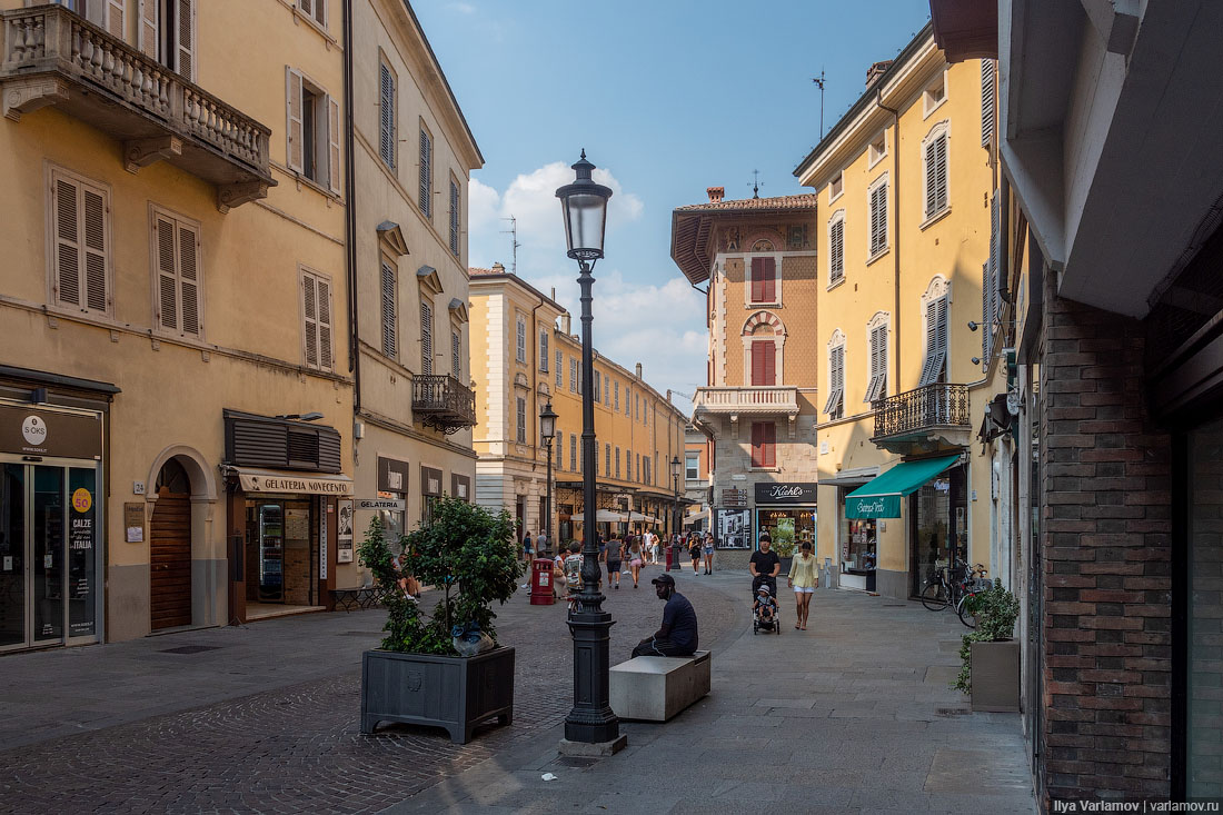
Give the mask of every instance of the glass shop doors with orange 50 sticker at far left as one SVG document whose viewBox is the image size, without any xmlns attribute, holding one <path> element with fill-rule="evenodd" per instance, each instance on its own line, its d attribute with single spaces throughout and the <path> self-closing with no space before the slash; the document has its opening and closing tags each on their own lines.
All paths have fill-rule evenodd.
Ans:
<svg viewBox="0 0 1223 815">
<path fill-rule="evenodd" d="M 0 650 L 97 639 L 97 471 L 0 463 Z"/>
</svg>

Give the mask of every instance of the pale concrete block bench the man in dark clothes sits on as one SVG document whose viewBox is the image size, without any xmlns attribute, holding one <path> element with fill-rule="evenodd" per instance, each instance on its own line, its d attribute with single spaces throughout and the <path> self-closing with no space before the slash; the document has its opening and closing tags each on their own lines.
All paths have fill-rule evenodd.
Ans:
<svg viewBox="0 0 1223 815">
<path fill-rule="evenodd" d="M 709 693 L 708 651 L 690 657 L 635 657 L 612 668 L 609 701 L 620 718 L 665 722 Z"/>
</svg>

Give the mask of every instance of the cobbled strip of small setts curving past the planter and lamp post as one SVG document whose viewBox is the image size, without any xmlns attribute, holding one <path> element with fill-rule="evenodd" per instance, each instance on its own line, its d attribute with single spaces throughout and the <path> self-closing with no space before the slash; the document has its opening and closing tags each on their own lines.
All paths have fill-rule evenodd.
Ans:
<svg viewBox="0 0 1223 815">
<path fill-rule="evenodd" d="M 657 628 L 662 603 L 648 579 L 609 591 L 615 616 L 613 663 L 627 658 L 641 636 Z M 701 616 L 702 640 L 712 642 L 736 619 L 724 594 L 691 573 L 682 591 Z M 334 616 L 330 616 L 334 618 Z M 347 619 L 347 618 L 346 618 Z M 374 645 L 382 616 L 352 614 L 352 627 L 324 636 L 363 638 Z M 188 709 L 153 715 L 79 735 L 57 737 L 0 751 L 4 813 L 363 813 L 400 802 L 498 753 L 528 743 L 560 724 L 572 700 L 572 647 L 565 607 L 528 606 L 520 592 L 499 609 L 498 639 L 516 649 L 515 711 L 509 727 L 490 726 L 466 745 L 444 731 L 393 726 L 358 733 L 360 663 L 336 660 L 334 675 Z M 309 631 L 306 618 L 295 631 Z M 268 620 L 258 627 L 274 627 Z M 254 627 L 252 627 L 254 628 Z M 323 630 L 323 627 L 319 627 Z M 262 630 L 267 635 L 267 629 Z M 213 641 L 218 631 L 179 635 L 175 642 Z M 146 642 L 146 641 L 142 641 Z M 105 646 L 122 649 L 126 644 Z M 309 634 L 295 644 L 309 652 Z M 325 651 L 329 644 L 320 642 Z M 136 646 L 133 646 L 136 647 Z M 5 657 L 11 661 L 38 655 Z M 45 661 L 54 664 L 53 661 Z M 20 666 L 12 662 L 15 667 Z M 235 664 L 235 672 L 246 666 Z M 23 669 L 28 678 L 28 669 Z M 45 675 L 55 683 L 55 675 Z M 105 677 L 100 678 L 105 683 Z M 102 696 L 105 688 L 100 689 Z M 0 696 L 2 700 L 4 696 Z M 172 704 L 172 702 L 171 702 Z M 164 710 L 165 699 L 148 700 Z M 0 706 L 0 712 L 2 712 Z"/>
</svg>

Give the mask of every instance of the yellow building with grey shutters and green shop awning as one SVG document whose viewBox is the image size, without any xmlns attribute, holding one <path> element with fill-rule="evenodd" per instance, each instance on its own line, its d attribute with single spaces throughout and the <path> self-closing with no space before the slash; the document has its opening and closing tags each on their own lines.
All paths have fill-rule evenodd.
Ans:
<svg viewBox="0 0 1223 815">
<path fill-rule="evenodd" d="M 976 330 L 993 105 L 993 64 L 948 65 L 927 27 L 795 170 L 819 206 L 817 548 L 843 587 L 916 596 L 956 553 L 994 568 L 998 483 L 975 443 L 1004 367 Z"/>
</svg>

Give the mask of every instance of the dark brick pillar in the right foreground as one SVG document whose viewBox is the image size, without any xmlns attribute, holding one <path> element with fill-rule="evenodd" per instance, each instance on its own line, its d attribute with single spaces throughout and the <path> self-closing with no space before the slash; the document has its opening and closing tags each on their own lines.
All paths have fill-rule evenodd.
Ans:
<svg viewBox="0 0 1223 815">
<path fill-rule="evenodd" d="M 1044 303 L 1044 792 L 1166 798 L 1170 439 L 1147 416 L 1141 324 Z"/>
</svg>

